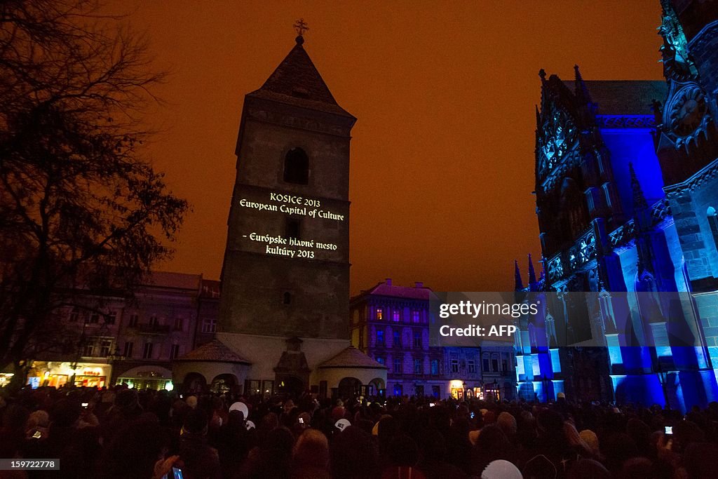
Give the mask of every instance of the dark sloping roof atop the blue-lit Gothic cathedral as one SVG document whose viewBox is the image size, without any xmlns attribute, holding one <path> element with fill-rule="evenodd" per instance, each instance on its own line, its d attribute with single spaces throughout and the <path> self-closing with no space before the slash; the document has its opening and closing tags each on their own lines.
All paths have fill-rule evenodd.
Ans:
<svg viewBox="0 0 718 479">
<path fill-rule="evenodd" d="M 668 93 L 664 80 L 584 80 L 599 115 L 653 115 L 651 101 Z M 574 90 L 573 80 L 564 80 Z"/>
</svg>

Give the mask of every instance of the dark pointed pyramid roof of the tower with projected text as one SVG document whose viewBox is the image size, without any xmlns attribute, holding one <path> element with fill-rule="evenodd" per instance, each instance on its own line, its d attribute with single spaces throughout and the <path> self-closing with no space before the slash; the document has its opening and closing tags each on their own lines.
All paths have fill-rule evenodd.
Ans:
<svg viewBox="0 0 718 479">
<path fill-rule="evenodd" d="M 337 104 L 322 75 L 299 41 L 274 73 L 269 75 L 264 85 L 248 96 L 354 118 Z"/>
</svg>

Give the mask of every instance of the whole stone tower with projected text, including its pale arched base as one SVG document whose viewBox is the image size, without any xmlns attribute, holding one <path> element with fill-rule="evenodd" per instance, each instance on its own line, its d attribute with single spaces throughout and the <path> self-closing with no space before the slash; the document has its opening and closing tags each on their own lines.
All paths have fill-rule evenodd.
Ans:
<svg viewBox="0 0 718 479">
<path fill-rule="evenodd" d="M 349 341 L 356 118 L 335 101 L 297 27 L 289 55 L 245 96 L 217 332 L 180 361 L 183 383 L 208 380 L 222 358 L 225 381 L 252 393 L 345 395 L 386 381 L 386 367 Z"/>
</svg>

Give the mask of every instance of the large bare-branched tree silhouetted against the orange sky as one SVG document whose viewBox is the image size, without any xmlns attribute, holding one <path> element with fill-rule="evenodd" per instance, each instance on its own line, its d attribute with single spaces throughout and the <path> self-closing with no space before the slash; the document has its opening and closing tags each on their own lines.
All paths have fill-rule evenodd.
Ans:
<svg viewBox="0 0 718 479">
<path fill-rule="evenodd" d="M 139 150 L 164 73 L 100 6 L 0 4 L 0 367 L 19 368 L 78 287 L 139 282 L 188 208 Z"/>
</svg>

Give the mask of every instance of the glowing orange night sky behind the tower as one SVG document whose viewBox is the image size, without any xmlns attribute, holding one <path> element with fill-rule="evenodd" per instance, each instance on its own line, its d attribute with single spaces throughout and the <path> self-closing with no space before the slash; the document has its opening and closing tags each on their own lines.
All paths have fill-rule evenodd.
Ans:
<svg viewBox="0 0 718 479">
<path fill-rule="evenodd" d="M 147 147 L 192 203 L 161 269 L 217 279 L 245 93 L 294 46 L 358 118 L 351 150 L 351 290 L 385 277 L 435 290 L 513 289 L 538 258 L 533 107 L 539 68 L 660 79 L 658 0 L 122 1 L 149 35 L 167 107 Z M 536 265 L 538 269 L 538 264 Z"/>
</svg>

